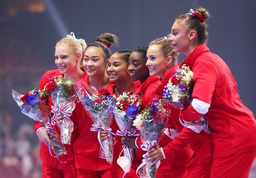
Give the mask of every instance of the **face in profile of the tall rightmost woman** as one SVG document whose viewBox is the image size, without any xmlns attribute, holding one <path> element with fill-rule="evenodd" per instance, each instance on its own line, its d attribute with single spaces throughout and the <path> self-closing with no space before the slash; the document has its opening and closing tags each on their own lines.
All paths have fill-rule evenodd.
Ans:
<svg viewBox="0 0 256 178">
<path fill-rule="evenodd" d="M 184 20 L 176 20 L 173 24 L 168 41 L 176 53 L 187 53 L 190 46 L 190 31 Z"/>
</svg>

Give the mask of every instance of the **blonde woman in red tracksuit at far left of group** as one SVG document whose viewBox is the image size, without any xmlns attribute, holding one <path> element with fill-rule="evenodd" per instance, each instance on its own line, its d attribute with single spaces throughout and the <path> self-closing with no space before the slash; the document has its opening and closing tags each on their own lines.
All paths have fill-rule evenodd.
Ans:
<svg viewBox="0 0 256 178">
<path fill-rule="evenodd" d="M 39 82 L 39 89 L 43 90 L 46 83 L 52 79 L 52 76 L 62 75 L 74 80 L 85 77 L 86 73 L 80 69 L 85 48 L 86 43 L 84 40 L 76 39 L 74 36 L 62 38 L 59 42 L 57 42 L 55 47 L 55 64 L 57 65 L 58 69 L 47 71 L 44 76 L 42 76 Z M 48 103 L 51 108 L 53 103 L 50 96 L 48 97 Z M 77 108 L 75 108 L 75 110 L 76 109 Z M 76 123 L 73 116 L 71 116 L 71 120 L 74 122 L 74 124 Z M 42 141 L 40 146 L 42 177 L 76 177 L 77 175 L 73 151 L 73 143 L 77 137 L 76 129 L 74 128 L 74 131 L 72 132 L 71 145 L 65 145 L 68 154 L 59 157 L 59 160 L 57 160 L 56 158 L 52 157 L 48 151 L 47 144 L 49 143 L 52 145 L 52 142 L 49 139 L 46 128 L 42 127 L 39 122 L 34 122 L 34 128 L 37 132 L 39 140 Z M 60 133 L 58 126 L 56 126 L 56 130 L 58 133 Z M 51 152 L 53 153 L 52 150 Z"/>
</svg>

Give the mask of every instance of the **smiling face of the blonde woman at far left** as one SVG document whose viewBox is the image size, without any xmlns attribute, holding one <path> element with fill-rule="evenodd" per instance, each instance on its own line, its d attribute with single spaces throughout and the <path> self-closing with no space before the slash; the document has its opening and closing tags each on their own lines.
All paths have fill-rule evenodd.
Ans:
<svg viewBox="0 0 256 178">
<path fill-rule="evenodd" d="M 80 53 L 74 54 L 68 44 L 59 44 L 55 48 L 55 64 L 60 74 L 71 74 L 77 71 L 77 65 L 80 60 Z"/>
</svg>

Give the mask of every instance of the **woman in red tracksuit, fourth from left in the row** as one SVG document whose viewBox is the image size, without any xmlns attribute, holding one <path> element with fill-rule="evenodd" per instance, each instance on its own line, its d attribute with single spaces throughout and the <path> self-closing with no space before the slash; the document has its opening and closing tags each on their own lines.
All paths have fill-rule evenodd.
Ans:
<svg viewBox="0 0 256 178">
<path fill-rule="evenodd" d="M 142 83 L 139 87 L 139 92 L 142 92 L 142 109 L 148 106 L 149 103 L 153 101 L 154 98 L 158 98 L 156 93 L 156 88 L 161 84 L 159 76 L 150 76 L 150 71 L 146 66 L 148 47 L 138 47 L 131 54 L 129 60 L 129 72 L 132 80 L 140 80 Z M 173 129 L 174 131 L 174 129 Z M 176 131 L 178 132 L 178 131 Z M 170 136 L 169 133 L 163 133 L 162 138 L 160 139 L 160 146 L 166 145 L 168 142 L 172 141 L 173 136 Z M 137 148 L 136 150 L 136 159 L 133 160 L 132 168 L 137 169 L 137 167 L 142 162 L 142 155 L 145 151 L 140 149 L 142 144 L 140 137 L 134 138 L 123 138 L 122 142 L 124 145 L 127 145 L 131 148 Z M 186 166 L 189 163 L 191 158 L 191 149 L 189 146 L 184 146 L 181 148 L 179 154 L 176 155 L 174 160 L 165 159 L 161 162 L 160 167 L 157 170 L 157 177 L 162 176 L 172 176 L 172 177 L 182 177 L 185 173 Z M 174 166 L 173 166 L 174 165 Z"/>
</svg>

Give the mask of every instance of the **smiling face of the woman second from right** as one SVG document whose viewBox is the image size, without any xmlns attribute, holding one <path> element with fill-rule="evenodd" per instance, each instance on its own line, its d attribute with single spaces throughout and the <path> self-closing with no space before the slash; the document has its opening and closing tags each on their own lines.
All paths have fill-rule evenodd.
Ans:
<svg viewBox="0 0 256 178">
<path fill-rule="evenodd" d="M 151 76 L 159 75 L 161 78 L 167 70 L 166 57 L 161 52 L 159 44 L 151 45 L 146 53 L 146 66 L 150 70 Z"/>
</svg>

